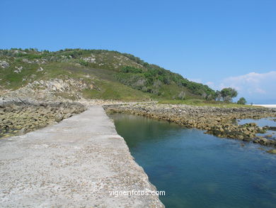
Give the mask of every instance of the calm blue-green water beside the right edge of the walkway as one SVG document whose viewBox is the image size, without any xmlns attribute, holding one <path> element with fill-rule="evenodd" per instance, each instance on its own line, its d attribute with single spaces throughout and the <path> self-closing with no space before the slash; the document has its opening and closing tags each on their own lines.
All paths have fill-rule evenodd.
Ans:
<svg viewBox="0 0 276 208">
<path fill-rule="evenodd" d="M 276 207 L 276 155 L 260 146 L 125 114 L 110 115 L 167 208 Z"/>
</svg>

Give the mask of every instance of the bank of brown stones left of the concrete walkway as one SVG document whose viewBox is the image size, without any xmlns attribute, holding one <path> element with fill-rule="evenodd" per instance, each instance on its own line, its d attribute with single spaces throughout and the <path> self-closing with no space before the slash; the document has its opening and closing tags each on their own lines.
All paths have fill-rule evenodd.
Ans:
<svg viewBox="0 0 276 208">
<path fill-rule="evenodd" d="M 74 102 L 7 101 L 0 103 L 0 138 L 21 135 L 79 114 L 86 106 Z"/>
</svg>

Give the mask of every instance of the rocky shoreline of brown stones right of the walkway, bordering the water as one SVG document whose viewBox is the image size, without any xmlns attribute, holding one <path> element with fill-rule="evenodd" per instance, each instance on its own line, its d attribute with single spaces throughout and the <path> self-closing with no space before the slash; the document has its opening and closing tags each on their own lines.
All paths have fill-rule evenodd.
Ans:
<svg viewBox="0 0 276 208">
<path fill-rule="evenodd" d="M 236 119 L 260 119 L 275 117 L 275 109 L 265 108 L 219 108 L 211 106 L 188 106 L 171 104 L 127 104 L 105 106 L 108 113 L 127 113 L 153 119 L 175 122 L 188 128 L 199 128 L 206 133 L 241 141 L 252 141 L 263 146 L 276 148 L 272 136 L 256 136 L 264 133 L 270 126 L 260 127 L 255 123 L 238 125 Z"/>
</svg>

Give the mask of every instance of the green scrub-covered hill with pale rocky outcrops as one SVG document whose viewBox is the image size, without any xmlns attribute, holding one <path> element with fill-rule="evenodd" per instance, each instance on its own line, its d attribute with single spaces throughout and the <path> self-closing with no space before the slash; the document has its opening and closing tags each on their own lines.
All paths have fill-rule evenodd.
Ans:
<svg viewBox="0 0 276 208">
<path fill-rule="evenodd" d="M 35 99 L 209 99 L 207 85 L 109 50 L 0 50 L 0 95 Z"/>
</svg>

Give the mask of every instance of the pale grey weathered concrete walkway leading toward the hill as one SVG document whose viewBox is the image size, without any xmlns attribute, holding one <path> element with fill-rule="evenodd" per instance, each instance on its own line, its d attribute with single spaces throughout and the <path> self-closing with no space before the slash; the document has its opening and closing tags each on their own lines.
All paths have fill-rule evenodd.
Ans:
<svg viewBox="0 0 276 208">
<path fill-rule="evenodd" d="M 0 140 L 0 207 L 163 207 L 101 106 Z"/>
</svg>

